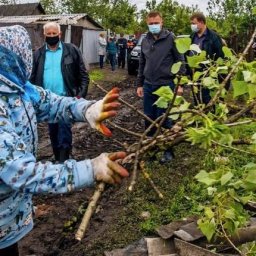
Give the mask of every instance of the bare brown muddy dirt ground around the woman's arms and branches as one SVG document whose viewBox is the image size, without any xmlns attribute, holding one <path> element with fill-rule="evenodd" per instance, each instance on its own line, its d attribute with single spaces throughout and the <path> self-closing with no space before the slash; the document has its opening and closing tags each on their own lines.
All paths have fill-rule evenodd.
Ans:
<svg viewBox="0 0 256 256">
<path fill-rule="evenodd" d="M 142 100 L 136 96 L 135 77 L 127 75 L 127 70 L 111 72 L 109 67 L 103 69 L 104 78 L 98 83 L 106 90 L 116 85 L 121 89 L 121 97 L 138 109 L 142 108 Z M 104 93 L 91 87 L 88 99 L 99 99 Z M 113 120 L 116 124 L 133 132 L 143 131 L 143 119 L 129 108 L 122 106 L 118 116 Z M 105 138 L 98 132 L 91 130 L 88 125 L 74 126 L 72 157 L 77 160 L 93 158 L 102 152 L 111 152 L 123 149 L 120 142 L 132 144 L 136 138 L 113 129 L 113 137 Z M 48 138 L 46 124 L 39 126 L 39 154 L 42 161 L 52 160 L 52 151 Z M 180 180 L 188 171 L 188 154 L 186 148 L 179 153 L 182 158 L 179 167 L 182 171 L 170 171 L 164 179 L 166 190 L 173 193 L 175 186 L 170 186 L 173 180 Z M 189 163 L 191 165 L 191 163 Z M 196 166 L 196 163 L 192 163 Z M 128 167 L 129 168 L 129 167 Z M 168 169 L 169 168 L 169 169 Z M 164 170 L 166 172 L 166 170 Z M 35 217 L 34 229 L 20 242 L 21 256 L 100 256 L 104 250 L 112 250 L 128 245 L 140 239 L 144 234 L 138 228 L 139 218 L 134 216 L 134 209 L 130 208 L 130 201 L 136 199 L 140 204 L 142 195 L 156 202 L 151 190 L 142 185 L 142 192 L 133 195 L 127 193 L 128 180 L 121 186 L 108 186 L 101 198 L 99 207 L 92 217 L 89 229 L 82 242 L 74 239 L 75 232 L 81 221 L 79 209 L 86 208 L 94 189 L 88 188 L 65 195 L 39 195 L 34 197 L 34 205 L 38 207 L 39 216 Z M 135 217 L 135 218 L 134 218 Z"/>
</svg>

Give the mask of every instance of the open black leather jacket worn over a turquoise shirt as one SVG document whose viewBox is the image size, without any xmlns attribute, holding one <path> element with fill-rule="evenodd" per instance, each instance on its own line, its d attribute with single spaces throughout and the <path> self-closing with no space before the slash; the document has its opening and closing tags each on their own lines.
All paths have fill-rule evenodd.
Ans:
<svg viewBox="0 0 256 256">
<path fill-rule="evenodd" d="M 67 96 L 85 97 L 89 85 L 89 75 L 86 71 L 81 51 L 73 44 L 63 43 L 61 71 L 67 91 Z M 34 53 L 34 62 L 30 82 L 43 87 L 44 63 L 46 45 Z"/>
</svg>

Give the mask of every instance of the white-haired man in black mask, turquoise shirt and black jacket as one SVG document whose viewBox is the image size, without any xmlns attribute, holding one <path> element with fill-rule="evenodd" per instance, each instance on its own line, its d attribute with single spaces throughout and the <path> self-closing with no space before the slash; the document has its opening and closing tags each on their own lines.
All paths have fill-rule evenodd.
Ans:
<svg viewBox="0 0 256 256">
<path fill-rule="evenodd" d="M 61 96 L 85 97 L 89 85 L 81 51 L 73 44 L 61 41 L 60 25 L 44 25 L 45 44 L 35 51 L 30 81 Z M 72 149 L 71 123 L 49 124 L 49 134 L 55 160 L 69 159 Z"/>
</svg>

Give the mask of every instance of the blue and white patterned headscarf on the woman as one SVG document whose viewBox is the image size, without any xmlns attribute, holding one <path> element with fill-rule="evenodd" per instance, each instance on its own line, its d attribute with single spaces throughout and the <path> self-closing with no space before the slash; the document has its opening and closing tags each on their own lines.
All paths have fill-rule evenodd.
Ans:
<svg viewBox="0 0 256 256">
<path fill-rule="evenodd" d="M 24 100 L 34 103 L 40 99 L 28 79 L 32 71 L 32 48 L 29 35 L 22 26 L 0 28 L 0 80 L 19 89 Z"/>
</svg>

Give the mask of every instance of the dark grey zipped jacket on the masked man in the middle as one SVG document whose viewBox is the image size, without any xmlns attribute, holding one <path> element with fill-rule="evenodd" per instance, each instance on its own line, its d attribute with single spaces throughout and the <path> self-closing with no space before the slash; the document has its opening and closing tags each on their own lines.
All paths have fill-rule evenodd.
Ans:
<svg viewBox="0 0 256 256">
<path fill-rule="evenodd" d="M 141 55 L 138 70 L 137 85 L 144 83 L 150 85 L 169 85 L 174 78 L 171 67 L 176 62 L 184 62 L 176 49 L 173 33 L 162 30 L 159 38 L 154 39 L 153 34 L 148 32 L 142 40 Z M 185 73 L 181 68 L 181 73 Z"/>
</svg>

